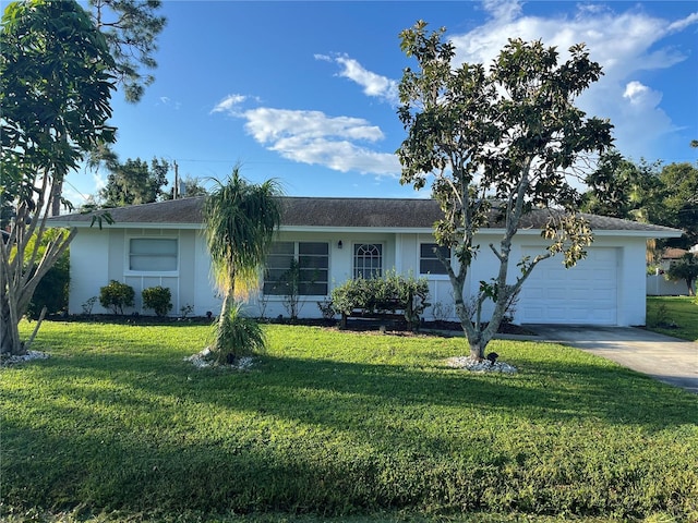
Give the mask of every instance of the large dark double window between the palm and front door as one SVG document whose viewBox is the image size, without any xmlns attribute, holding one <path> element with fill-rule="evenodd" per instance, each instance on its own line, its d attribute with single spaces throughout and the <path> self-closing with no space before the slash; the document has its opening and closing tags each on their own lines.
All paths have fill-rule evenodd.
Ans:
<svg viewBox="0 0 698 523">
<path fill-rule="evenodd" d="M 329 282 L 329 244 L 326 242 L 274 242 L 266 258 L 264 294 L 289 293 L 293 262 L 298 264 L 298 294 L 326 296 Z"/>
</svg>

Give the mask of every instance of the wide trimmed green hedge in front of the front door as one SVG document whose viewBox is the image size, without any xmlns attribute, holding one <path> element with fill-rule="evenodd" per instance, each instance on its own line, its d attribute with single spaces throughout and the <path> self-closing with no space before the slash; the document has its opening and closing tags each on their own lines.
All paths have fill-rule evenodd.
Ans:
<svg viewBox="0 0 698 523">
<path fill-rule="evenodd" d="M 356 278 L 347 280 L 332 291 L 334 311 L 350 315 L 353 309 L 365 313 L 405 311 L 405 318 L 417 324 L 430 305 L 426 278 L 398 275 L 387 271 L 383 278 Z"/>
</svg>

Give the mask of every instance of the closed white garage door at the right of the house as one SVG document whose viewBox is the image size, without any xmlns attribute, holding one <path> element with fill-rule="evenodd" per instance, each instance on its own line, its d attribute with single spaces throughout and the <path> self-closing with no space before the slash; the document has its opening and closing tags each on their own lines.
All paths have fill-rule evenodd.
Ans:
<svg viewBox="0 0 698 523">
<path fill-rule="evenodd" d="M 540 250 L 524 250 L 534 256 Z M 575 267 L 561 256 L 541 262 L 521 289 L 518 317 L 525 324 L 616 325 L 617 250 L 589 247 Z"/>
</svg>

